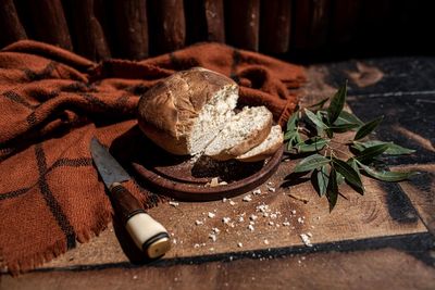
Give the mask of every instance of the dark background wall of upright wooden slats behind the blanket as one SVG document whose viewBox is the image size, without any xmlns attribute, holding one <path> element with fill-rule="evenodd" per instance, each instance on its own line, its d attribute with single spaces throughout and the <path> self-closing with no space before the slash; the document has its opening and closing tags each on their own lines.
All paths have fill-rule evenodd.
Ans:
<svg viewBox="0 0 435 290">
<path fill-rule="evenodd" d="M 219 41 L 294 62 L 433 54 L 434 1 L 0 0 L 0 47 L 36 39 L 91 60 Z"/>
</svg>

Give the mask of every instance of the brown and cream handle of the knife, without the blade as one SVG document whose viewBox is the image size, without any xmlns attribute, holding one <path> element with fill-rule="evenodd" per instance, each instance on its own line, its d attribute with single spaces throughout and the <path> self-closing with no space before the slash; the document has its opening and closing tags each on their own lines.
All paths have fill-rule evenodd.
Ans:
<svg viewBox="0 0 435 290">
<path fill-rule="evenodd" d="M 110 192 L 115 213 L 120 215 L 135 244 L 150 259 L 166 253 L 171 248 L 167 230 L 149 216 L 139 201 L 121 184 L 114 182 Z"/>
</svg>

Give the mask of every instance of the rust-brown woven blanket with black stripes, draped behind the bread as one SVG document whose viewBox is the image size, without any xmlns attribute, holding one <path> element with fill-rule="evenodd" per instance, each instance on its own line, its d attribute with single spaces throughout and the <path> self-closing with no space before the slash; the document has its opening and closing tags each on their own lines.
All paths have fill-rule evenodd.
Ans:
<svg viewBox="0 0 435 290">
<path fill-rule="evenodd" d="M 0 51 L 0 263 L 34 268 L 103 230 L 112 207 L 89 141 L 136 125 L 142 92 L 175 71 L 203 66 L 240 84 L 240 102 L 264 104 L 279 124 L 295 109 L 303 70 L 216 43 L 141 62 L 96 64 L 53 46 L 20 41 Z M 151 193 L 127 188 L 146 206 Z"/>
</svg>

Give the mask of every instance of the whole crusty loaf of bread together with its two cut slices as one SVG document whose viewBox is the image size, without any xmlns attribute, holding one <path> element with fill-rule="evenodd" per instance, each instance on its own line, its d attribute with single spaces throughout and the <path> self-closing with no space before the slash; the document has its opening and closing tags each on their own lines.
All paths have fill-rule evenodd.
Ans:
<svg viewBox="0 0 435 290">
<path fill-rule="evenodd" d="M 138 124 L 158 146 L 178 155 L 259 161 L 283 142 L 265 106 L 235 113 L 238 86 L 219 73 L 195 67 L 149 89 L 138 103 Z M 279 128 L 279 130 L 277 129 Z"/>
</svg>

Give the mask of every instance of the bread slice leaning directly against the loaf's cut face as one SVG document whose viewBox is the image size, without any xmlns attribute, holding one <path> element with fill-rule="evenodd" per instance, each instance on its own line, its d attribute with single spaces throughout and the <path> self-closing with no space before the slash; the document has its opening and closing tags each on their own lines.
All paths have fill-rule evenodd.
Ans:
<svg viewBox="0 0 435 290">
<path fill-rule="evenodd" d="M 270 134 L 272 113 L 265 106 L 245 106 L 206 148 L 215 160 L 229 160 L 260 144 Z"/>
</svg>

